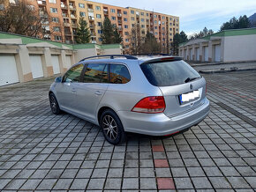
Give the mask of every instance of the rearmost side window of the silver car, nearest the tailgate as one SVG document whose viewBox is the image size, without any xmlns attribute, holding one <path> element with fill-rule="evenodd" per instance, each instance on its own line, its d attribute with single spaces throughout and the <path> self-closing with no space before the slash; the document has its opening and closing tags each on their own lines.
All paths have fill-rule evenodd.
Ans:
<svg viewBox="0 0 256 192">
<path fill-rule="evenodd" d="M 110 83 L 126 84 L 131 80 L 129 70 L 123 64 L 110 64 Z"/>
</svg>

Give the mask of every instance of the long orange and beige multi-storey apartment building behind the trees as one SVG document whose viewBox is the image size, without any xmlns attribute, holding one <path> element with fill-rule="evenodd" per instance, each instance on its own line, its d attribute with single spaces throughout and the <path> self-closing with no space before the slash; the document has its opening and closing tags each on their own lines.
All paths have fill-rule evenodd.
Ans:
<svg viewBox="0 0 256 192">
<path fill-rule="evenodd" d="M 6 0 L 16 4 L 19 0 Z M 102 43 L 102 23 L 108 17 L 117 26 L 122 35 L 124 48 L 129 46 L 132 27 L 140 26 L 140 33 L 154 33 L 155 38 L 168 46 L 175 33 L 179 33 L 179 18 L 154 11 L 140 10 L 133 7 L 118 7 L 86 0 L 28 0 L 38 9 L 42 18 L 49 18 L 43 23 L 45 33 L 42 38 L 65 43 L 75 42 L 79 18 L 87 20 L 91 31 L 92 43 Z M 0 5 L 1 6 L 1 5 Z M 4 6 L 4 5 L 3 5 Z"/>
</svg>

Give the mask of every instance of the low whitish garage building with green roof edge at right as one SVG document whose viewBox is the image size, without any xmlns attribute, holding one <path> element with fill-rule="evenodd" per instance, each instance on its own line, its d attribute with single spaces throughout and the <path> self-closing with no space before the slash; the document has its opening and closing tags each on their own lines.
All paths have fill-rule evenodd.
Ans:
<svg viewBox="0 0 256 192">
<path fill-rule="evenodd" d="M 195 62 L 255 62 L 255 45 L 256 28 L 226 30 L 188 41 L 179 47 L 178 53 L 184 60 Z M 194 48 L 192 55 L 191 48 Z"/>
</svg>

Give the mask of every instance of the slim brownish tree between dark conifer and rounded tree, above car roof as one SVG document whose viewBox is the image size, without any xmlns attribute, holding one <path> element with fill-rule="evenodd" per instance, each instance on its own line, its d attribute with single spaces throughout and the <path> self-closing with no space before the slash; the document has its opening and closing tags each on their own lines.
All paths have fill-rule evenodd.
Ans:
<svg viewBox="0 0 256 192">
<path fill-rule="evenodd" d="M 131 40 L 130 48 L 129 48 L 130 54 L 132 55 L 142 54 L 142 44 L 144 40 L 141 37 L 139 25 L 135 25 L 132 27 L 129 39 Z"/>
</svg>

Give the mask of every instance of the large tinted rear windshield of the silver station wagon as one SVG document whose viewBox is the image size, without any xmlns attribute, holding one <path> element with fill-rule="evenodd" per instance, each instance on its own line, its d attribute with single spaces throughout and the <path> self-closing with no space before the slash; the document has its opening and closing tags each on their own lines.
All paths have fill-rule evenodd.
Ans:
<svg viewBox="0 0 256 192">
<path fill-rule="evenodd" d="M 154 86 L 180 85 L 189 79 L 200 78 L 200 74 L 184 61 L 142 63 L 140 68 L 150 84 Z"/>
</svg>

